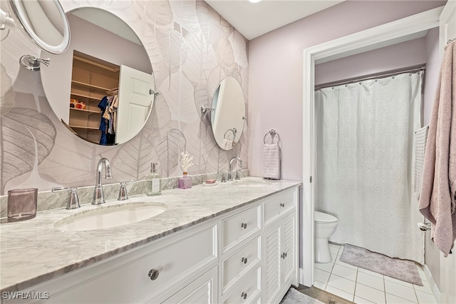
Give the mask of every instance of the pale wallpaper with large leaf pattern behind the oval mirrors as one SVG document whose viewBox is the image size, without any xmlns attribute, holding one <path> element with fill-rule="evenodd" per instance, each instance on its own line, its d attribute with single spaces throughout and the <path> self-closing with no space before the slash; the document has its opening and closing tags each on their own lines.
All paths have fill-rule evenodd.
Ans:
<svg viewBox="0 0 456 304">
<path fill-rule="evenodd" d="M 194 156 L 190 175 L 227 171 L 233 156 L 240 156 L 248 167 L 247 121 L 237 146 L 224 151 L 212 135 L 209 117 L 200 111 L 201 106 L 210 106 L 215 88 L 227 76 L 241 84 L 246 112 L 248 102 L 248 41 L 206 2 L 66 0 L 61 4 L 65 11 L 83 6 L 105 9 L 125 21 L 147 51 L 160 95 L 135 138 L 118 146 L 88 143 L 68 131 L 53 113 L 39 72 L 19 66 L 22 55 L 40 50 L 18 29 L 6 39 L 1 33 L 1 196 L 12 188 L 93 186 L 101 157 L 113 167 L 110 183 L 144 180 L 151 162 L 159 163 L 162 177 L 180 176 L 184 150 Z"/>
</svg>

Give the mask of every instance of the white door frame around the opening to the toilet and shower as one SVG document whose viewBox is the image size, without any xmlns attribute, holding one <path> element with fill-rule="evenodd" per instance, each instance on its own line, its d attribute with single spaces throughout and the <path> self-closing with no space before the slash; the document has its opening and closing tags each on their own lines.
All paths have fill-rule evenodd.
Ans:
<svg viewBox="0 0 456 304">
<path fill-rule="evenodd" d="M 423 36 L 422 32 L 439 26 L 442 7 L 420 14 L 375 26 L 371 29 L 344 36 L 304 49 L 304 101 L 303 101 L 303 209 L 301 211 L 301 255 L 303 268 L 299 283 L 314 285 L 314 71 L 315 64 L 340 59 L 384 46 Z"/>
</svg>

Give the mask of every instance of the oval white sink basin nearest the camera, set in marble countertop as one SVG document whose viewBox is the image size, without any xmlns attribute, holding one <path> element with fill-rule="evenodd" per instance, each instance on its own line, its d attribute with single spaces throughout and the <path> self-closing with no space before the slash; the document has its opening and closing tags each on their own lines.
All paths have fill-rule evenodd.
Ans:
<svg viewBox="0 0 456 304">
<path fill-rule="evenodd" d="M 147 220 L 165 211 L 162 203 L 125 203 L 82 211 L 56 221 L 54 228 L 82 231 L 113 228 Z"/>
</svg>

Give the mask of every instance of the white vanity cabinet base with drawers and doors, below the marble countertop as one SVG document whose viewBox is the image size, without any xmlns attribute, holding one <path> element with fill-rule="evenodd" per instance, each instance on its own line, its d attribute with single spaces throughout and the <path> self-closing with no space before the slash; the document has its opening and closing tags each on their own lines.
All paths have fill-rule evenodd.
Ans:
<svg viewBox="0 0 456 304">
<path fill-rule="evenodd" d="M 279 191 L 3 303 L 279 303 L 298 285 L 297 204 L 297 187 Z"/>
</svg>

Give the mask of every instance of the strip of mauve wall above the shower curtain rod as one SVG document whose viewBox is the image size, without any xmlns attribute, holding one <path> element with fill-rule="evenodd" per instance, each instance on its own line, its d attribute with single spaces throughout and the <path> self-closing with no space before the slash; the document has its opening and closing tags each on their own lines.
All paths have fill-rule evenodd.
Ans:
<svg viewBox="0 0 456 304">
<path fill-rule="evenodd" d="M 315 66 L 315 84 L 341 81 L 425 64 L 425 37 Z"/>
</svg>

